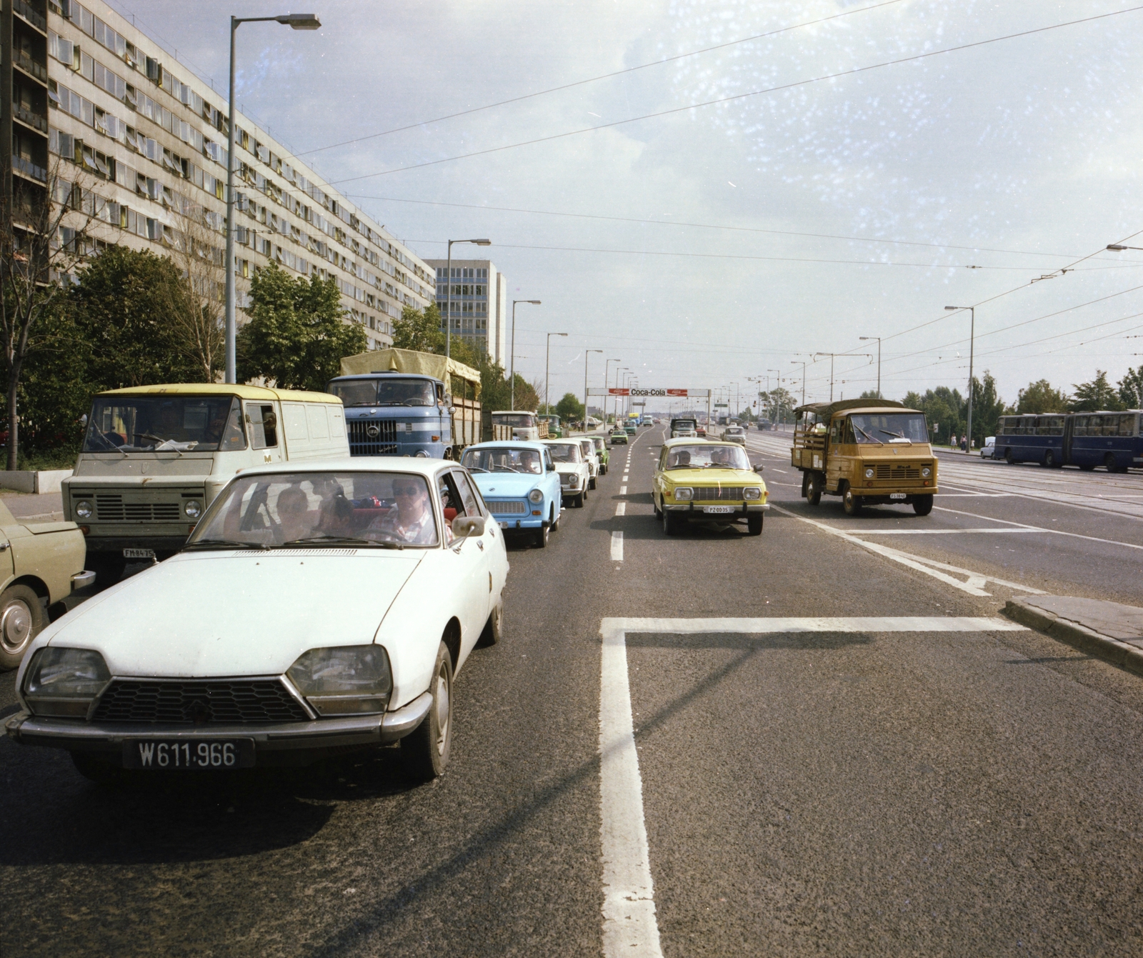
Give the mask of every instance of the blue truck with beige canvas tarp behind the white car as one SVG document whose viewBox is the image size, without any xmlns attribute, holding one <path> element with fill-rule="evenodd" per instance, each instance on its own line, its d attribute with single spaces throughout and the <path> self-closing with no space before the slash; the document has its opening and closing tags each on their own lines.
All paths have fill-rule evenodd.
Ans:
<svg viewBox="0 0 1143 958">
<path fill-rule="evenodd" d="M 345 404 L 350 455 L 458 460 L 480 441 L 480 373 L 415 350 L 342 360 L 328 391 Z"/>
</svg>

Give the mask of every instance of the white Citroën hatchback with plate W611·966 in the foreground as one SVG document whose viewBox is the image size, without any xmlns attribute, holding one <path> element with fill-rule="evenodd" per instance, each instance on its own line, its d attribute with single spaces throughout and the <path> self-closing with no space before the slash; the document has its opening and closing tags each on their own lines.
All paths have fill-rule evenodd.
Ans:
<svg viewBox="0 0 1143 958">
<path fill-rule="evenodd" d="M 306 764 L 400 741 L 443 772 L 453 680 L 499 637 L 502 532 L 454 462 L 353 458 L 235 476 L 181 552 L 48 625 L 18 742 L 121 769 Z"/>
</svg>

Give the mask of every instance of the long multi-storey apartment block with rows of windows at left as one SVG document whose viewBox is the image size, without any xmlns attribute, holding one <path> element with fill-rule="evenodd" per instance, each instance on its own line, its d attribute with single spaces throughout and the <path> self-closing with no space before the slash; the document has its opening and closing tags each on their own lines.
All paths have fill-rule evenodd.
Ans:
<svg viewBox="0 0 1143 958">
<path fill-rule="evenodd" d="M 0 0 L 0 162 L 6 195 L 50 190 L 86 229 L 61 244 L 193 250 L 225 284 L 226 99 L 102 0 Z M 392 344 L 403 306 L 435 298 L 435 270 L 281 143 L 235 114 L 239 324 L 271 262 L 336 280 L 370 349 Z M 94 217 L 94 218 L 93 218 Z"/>
</svg>

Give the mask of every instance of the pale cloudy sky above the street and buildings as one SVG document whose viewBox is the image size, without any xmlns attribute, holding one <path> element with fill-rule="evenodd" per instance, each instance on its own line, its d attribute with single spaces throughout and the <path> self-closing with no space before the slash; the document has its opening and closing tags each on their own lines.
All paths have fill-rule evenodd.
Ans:
<svg viewBox="0 0 1143 958">
<path fill-rule="evenodd" d="M 218 90 L 229 17 L 288 11 L 112 6 Z M 972 320 L 946 305 L 976 306 L 974 373 L 1009 402 L 1143 366 L 1143 249 L 1105 249 L 1143 247 L 1132 0 L 311 9 L 319 31 L 239 29 L 243 112 L 418 255 L 490 238 L 509 298 L 542 301 L 517 372 L 542 383 L 568 334 L 553 402 L 607 359 L 732 405 L 828 399 L 831 352 L 856 397 L 861 336 L 886 397 L 964 392 Z"/>
</svg>

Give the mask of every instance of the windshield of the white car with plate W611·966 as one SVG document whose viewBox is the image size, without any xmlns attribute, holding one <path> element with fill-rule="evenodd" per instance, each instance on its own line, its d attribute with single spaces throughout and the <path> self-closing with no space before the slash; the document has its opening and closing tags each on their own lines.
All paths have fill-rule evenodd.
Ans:
<svg viewBox="0 0 1143 958">
<path fill-rule="evenodd" d="M 423 476 L 296 472 L 239 477 L 211 504 L 187 549 L 435 545 Z"/>
</svg>

